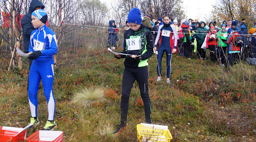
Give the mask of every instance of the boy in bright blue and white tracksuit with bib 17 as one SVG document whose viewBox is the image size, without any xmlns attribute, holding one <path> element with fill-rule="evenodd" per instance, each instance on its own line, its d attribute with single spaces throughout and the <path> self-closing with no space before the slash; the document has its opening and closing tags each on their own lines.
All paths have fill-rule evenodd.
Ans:
<svg viewBox="0 0 256 142">
<path fill-rule="evenodd" d="M 55 98 L 52 92 L 53 84 L 53 55 L 57 53 L 57 39 L 55 33 L 45 23 L 47 14 L 43 9 L 32 13 L 32 25 L 36 30 L 31 33 L 29 44 L 29 59 L 33 60 L 29 73 L 28 100 L 31 109 L 30 123 L 36 126 L 40 123 L 37 117 L 37 92 L 42 80 L 44 94 L 48 106 L 48 121 L 42 130 L 52 130 L 56 123 L 54 121 Z M 30 54 L 33 52 L 32 54 Z"/>
</svg>

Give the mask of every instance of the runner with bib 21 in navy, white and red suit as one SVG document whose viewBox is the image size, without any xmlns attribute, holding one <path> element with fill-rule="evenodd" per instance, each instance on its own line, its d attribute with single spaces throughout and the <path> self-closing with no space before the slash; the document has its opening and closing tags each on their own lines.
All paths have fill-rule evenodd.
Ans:
<svg viewBox="0 0 256 142">
<path fill-rule="evenodd" d="M 162 70 L 162 57 L 164 52 L 166 52 L 166 64 L 167 64 L 167 83 L 170 83 L 171 75 L 171 59 L 172 53 L 176 53 L 177 46 L 177 32 L 176 27 L 171 25 L 171 16 L 169 14 L 163 15 L 164 23 L 159 26 L 157 37 L 155 39 L 155 49 L 158 40 L 161 38 L 160 45 L 157 55 L 157 81 L 161 80 L 161 70 Z M 172 37 L 174 37 L 174 49 L 172 50 Z"/>
</svg>

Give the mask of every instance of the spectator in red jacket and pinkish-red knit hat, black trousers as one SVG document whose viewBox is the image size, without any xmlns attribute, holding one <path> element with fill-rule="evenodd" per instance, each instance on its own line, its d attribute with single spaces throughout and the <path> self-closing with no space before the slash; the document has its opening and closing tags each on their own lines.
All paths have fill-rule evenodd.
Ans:
<svg viewBox="0 0 256 142">
<path fill-rule="evenodd" d="M 210 38 L 206 38 L 206 48 L 209 48 L 211 62 L 217 61 L 218 39 L 216 33 L 217 31 L 215 30 L 215 27 L 211 26 L 209 32 Z"/>
</svg>

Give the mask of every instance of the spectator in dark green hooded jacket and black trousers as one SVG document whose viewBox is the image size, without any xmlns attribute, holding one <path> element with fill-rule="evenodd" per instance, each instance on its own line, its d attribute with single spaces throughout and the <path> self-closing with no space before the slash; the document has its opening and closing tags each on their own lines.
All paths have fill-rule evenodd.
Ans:
<svg viewBox="0 0 256 142">
<path fill-rule="evenodd" d="M 206 25 L 205 22 L 201 21 L 199 24 L 199 28 L 196 30 L 196 34 L 195 34 L 196 38 L 198 39 L 197 55 L 199 55 L 201 59 L 206 59 L 205 58 L 206 50 L 201 48 L 201 46 L 204 43 L 204 35 L 206 34 L 206 31 L 207 31 L 207 28 L 205 28 L 205 25 Z"/>
</svg>

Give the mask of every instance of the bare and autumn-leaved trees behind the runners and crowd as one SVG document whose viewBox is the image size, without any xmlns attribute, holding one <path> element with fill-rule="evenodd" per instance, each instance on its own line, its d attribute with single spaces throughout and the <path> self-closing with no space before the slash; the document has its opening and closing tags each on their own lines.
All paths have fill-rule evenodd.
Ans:
<svg viewBox="0 0 256 142">
<path fill-rule="evenodd" d="M 23 50 L 19 21 L 21 15 L 28 12 L 30 2 L 31 0 L 0 0 L 0 68 L 4 70 L 10 70 L 16 64 L 22 68 L 22 57 L 15 53 L 14 48 Z M 151 20 L 162 17 L 164 11 L 178 22 L 181 19 L 197 18 L 186 16 L 185 4 L 180 0 L 115 0 L 111 3 L 102 3 L 99 0 L 42 0 L 42 3 L 48 15 L 49 27 L 57 35 L 58 52 L 69 48 L 77 49 L 85 44 L 83 41 L 87 35 L 83 35 L 80 29 L 83 25 L 108 27 L 108 21 L 115 20 L 116 23 L 121 23 L 121 27 L 124 26 L 128 12 L 133 7 L 139 8 L 142 16 L 149 14 Z M 252 27 L 256 20 L 255 3 L 253 0 L 218 0 L 213 5 L 211 15 L 205 18 L 206 22 L 222 23 L 227 19 L 245 18 L 247 25 Z M 195 15 L 196 13 L 195 10 Z M 9 26 L 6 26 L 4 21 L 7 21 Z M 70 56 L 72 55 L 69 55 L 69 58 Z M 63 62 L 65 57 L 57 54 L 55 67 L 64 67 L 70 62 Z"/>
</svg>

